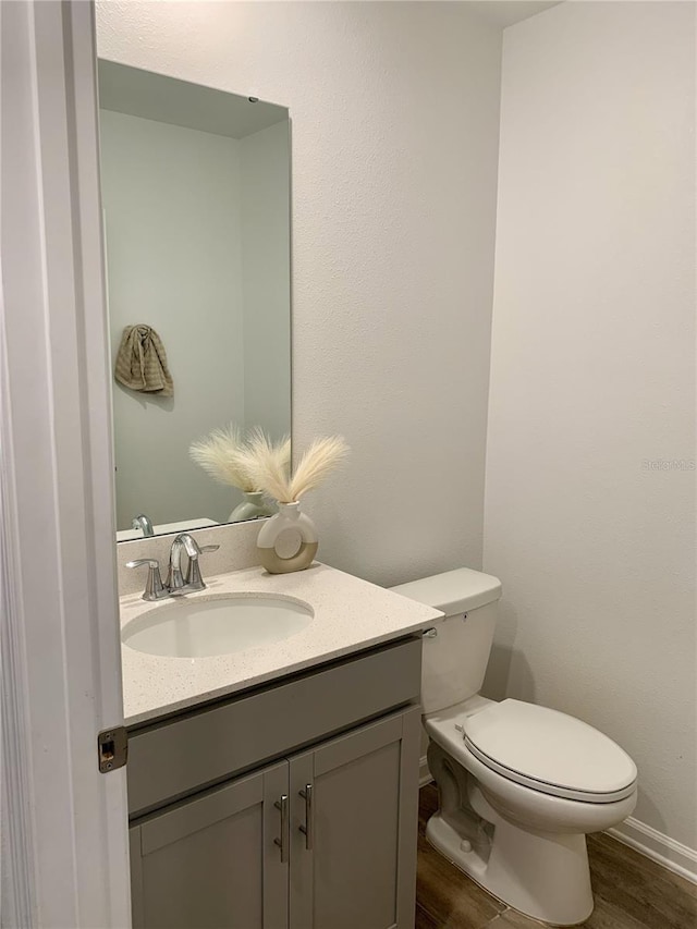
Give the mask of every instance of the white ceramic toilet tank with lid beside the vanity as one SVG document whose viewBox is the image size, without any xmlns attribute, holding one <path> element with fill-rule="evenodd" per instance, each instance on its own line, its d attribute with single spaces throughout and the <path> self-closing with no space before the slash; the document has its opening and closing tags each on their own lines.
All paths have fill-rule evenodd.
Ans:
<svg viewBox="0 0 697 929">
<path fill-rule="evenodd" d="M 443 710 L 478 694 L 497 623 L 498 577 L 458 567 L 391 589 L 445 613 L 433 625 L 436 635 L 424 637 L 424 712 Z"/>
</svg>

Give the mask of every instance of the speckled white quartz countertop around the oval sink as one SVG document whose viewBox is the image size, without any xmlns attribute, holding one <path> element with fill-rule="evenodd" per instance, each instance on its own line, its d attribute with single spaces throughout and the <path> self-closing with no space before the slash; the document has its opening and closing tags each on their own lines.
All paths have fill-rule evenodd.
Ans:
<svg viewBox="0 0 697 929">
<path fill-rule="evenodd" d="M 426 628 L 442 613 L 351 574 L 315 563 L 294 574 L 249 567 L 206 578 L 207 588 L 187 600 L 225 594 L 294 597 L 309 603 L 305 628 L 271 645 L 208 658 L 169 658 L 122 645 L 123 709 L 126 725 L 235 694 L 306 668 Z M 181 598 L 183 599 L 183 598 Z M 121 628 L 146 611 L 171 606 L 121 598 Z"/>
</svg>

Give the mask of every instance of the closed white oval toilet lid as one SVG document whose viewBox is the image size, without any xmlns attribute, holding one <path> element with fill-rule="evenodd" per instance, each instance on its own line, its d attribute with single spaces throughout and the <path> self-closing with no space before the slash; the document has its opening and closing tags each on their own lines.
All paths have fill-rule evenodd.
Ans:
<svg viewBox="0 0 697 929">
<path fill-rule="evenodd" d="M 611 803 L 635 790 L 626 751 L 574 717 L 503 700 L 463 722 L 465 744 L 487 767 L 542 793 Z"/>
</svg>

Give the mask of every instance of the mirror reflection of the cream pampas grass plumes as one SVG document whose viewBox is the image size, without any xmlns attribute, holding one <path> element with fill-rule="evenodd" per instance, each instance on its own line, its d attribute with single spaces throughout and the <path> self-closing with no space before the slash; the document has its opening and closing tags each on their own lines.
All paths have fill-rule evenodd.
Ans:
<svg viewBox="0 0 697 929">
<path fill-rule="evenodd" d="M 249 439 L 245 440 L 241 429 L 230 425 L 225 429 L 215 429 L 205 439 L 193 442 L 188 453 L 197 465 L 220 484 L 232 485 L 247 492 L 262 490 L 252 467 L 256 457 L 252 454 L 252 443 L 258 441 L 258 436 L 264 436 L 264 432 L 255 428 Z M 271 448 L 277 466 L 288 469 L 291 440 L 286 437 Z"/>
</svg>

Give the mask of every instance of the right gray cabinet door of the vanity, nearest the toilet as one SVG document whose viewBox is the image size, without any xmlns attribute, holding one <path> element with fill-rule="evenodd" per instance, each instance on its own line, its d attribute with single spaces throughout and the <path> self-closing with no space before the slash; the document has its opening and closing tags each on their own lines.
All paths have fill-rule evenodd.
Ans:
<svg viewBox="0 0 697 929">
<path fill-rule="evenodd" d="M 291 759 L 291 929 L 412 929 L 420 710 Z"/>
</svg>

